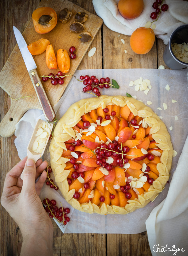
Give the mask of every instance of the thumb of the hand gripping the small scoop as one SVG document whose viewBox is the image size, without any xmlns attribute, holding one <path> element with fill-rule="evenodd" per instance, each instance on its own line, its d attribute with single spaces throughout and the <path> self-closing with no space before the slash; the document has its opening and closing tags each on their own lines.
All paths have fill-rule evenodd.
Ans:
<svg viewBox="0 0 188 256">
<path fill-rule="evenodd" d="M 32 159 L 27 159 L 23 172 L 24 177 L 21 191 L 32 192 L 32 190 L 35 190 L 36 175 L 36 165 Z"/>
</svg>

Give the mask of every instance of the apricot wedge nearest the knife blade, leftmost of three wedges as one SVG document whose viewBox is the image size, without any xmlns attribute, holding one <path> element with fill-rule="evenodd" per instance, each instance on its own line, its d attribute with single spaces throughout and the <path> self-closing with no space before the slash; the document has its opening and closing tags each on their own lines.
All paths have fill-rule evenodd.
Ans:
<svg viewBox="0 0 188 256">
<path fill-rule="evenodd" d="M 41 38 L 28 45 L 28 50 L 32 55 L 38 55 L 46 51 L 47 46 L 50 44 L 50 41 L 47 39 Z"/>
</svg>

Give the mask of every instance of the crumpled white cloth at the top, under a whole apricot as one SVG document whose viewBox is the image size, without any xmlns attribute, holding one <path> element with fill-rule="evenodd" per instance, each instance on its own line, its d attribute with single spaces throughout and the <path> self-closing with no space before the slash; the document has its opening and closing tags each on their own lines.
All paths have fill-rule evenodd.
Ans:
<svg viewBox="0 0 188 256">
<path fill-rule="evenodd" d="M 119 0 L 93 0 L 95 12 L 101 17 L 107 27 L 111 30 L 131 35 L 138 27 L 144 27 L 146 22 L 151 21 L 150 15 L 155 12 L 152 4 L 154 0 L 144 0 L 144 9 L 139 17 L 135 19 L 125 19 L 121 16 L 117 8 Z M 155 35 L 168 43 L 171 33 L 179 26 L 188 24 L 188 2 L 180 0 L 166 0 L 169 9 L 161 12 L 161 16 L 153 24 L 156 25 Z M 187 42 L 186 42 L 187 43 Z"/>
</svg>

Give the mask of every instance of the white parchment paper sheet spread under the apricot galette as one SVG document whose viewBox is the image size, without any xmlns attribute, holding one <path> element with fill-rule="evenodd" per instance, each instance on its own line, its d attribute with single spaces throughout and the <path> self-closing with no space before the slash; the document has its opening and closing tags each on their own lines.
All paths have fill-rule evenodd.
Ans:
<svg viewBox="0 0 188 256">
<path fill-rule="evenodd" d="M 98 69 L 98 70 L 78 70 L 75 73 L 77 78 L 80 75 L 89 76 L 95 75 L 97 78 L 110 77 L 115 79 L 120 85 L 120 89 L 100 89 L 102 94 L 106 95 L 136 95 L 137 100 L 142 100 L 145 104 L 147 101 L 151 101 L 150 107 L 158 116 L 162 116 L 162 121 L 167 126 L 167 130 L 171 135 L 171 141 L 174 150 L 177 151 L 177 156 L 172 160 L 172 169 L 169 182 L 172 178 L 172 174 L 176 168 L 177 161 L 182 152 L 184 142 L 187 138 L 187 125 L 188 125 L 188 83 L 187 83 L 187 69 L 184 70 L 158 70 L 158 69 Z M 129 87 L 129 82 L 142 77 L 143 79 L 149 79 L 151 81 L 152 88 L 147 95 L 144 91 L 136 92 L 134 87 Z M 170 90 L 167 91 L 165 86 L 169 84 Z M 68 107 L 74 102 L 88 97 L 94 97 L 91 94 L 82 92 L 83 84 L 77 81 L 74 77 L 71 79 L 70 86 L 68 87 L 67 95 L 61 103 L 56 116 L 58 120 L 66 112 Z M 55 87 L 54 87 L 55 89 Z M 176 103 L 172 103 L 173 100 L 177 100 Z M 163 109 L 162 103 L 167 104 L 167 110 Z M 162 110 L 157 110 L 157 107 L 161 107 Z M 18 150 L 19 157 L 22 159 L 26 156 L 26 148 L 32 133 L 32 126 L 26 120 L 37 119 L 36 112 L 39 110 L 28 110 L 27 117 L 24 117 L 24 122 L 20 122 L 16 126 L 15 145 Z M 38 112 L 39 113 L 39 112 Z M 41 113 L 41 111 L 40 111 Z M 32 116 L 35 116 L 32 118 Z M 43 115 L 38 116 L 42 118 Z M 179 120 L 175 121 L 175 116 Z M 169 127 L 172 126 L 172 131 Z M 49 152 L 46 150 L 44 159 L 49 160 Z M 52 177 L 53 175 L 51 175 Z M 164 198 L 166 198 L 170 183 L 166 184 L 165 189 L 159 194 L 153 203 L 148 203 L 142 209 L 129 213 L 127 215 L 105 215 L 82 213 L 78 210 L 74 210 L 71 216 L 71 221 L 66 227 L 65 233 L 117 233 L 117 234 L 137 234 L 146 231 L 145 221 L 150 215 L 152 209 L 157 206 Z M 46 186 L 46 185 L 45 185 Z M 46 197 L 51 198 L 52 189 L 45 187 Z M 58 191 L 53 191 L 56 194 Z M 60 193 L 60 192 L 59 192 Z M 53 194 L 53 198 L 55 195 Z M 43 199 L 43 198 L 42 198 Z M 56 199 L 56 198 L 54 198 Z"/>
</svg>

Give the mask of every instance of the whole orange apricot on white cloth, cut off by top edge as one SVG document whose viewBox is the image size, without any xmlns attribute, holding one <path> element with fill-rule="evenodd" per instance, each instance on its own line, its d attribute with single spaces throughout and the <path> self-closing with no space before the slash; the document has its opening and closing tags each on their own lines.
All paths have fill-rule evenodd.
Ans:
<svg viewBox="0 0 188 256">
<path fill-rule="evenodd" d="M 117 4 L 120 14 L 126 19 L 135 19 L 137 18 L 143 8 L 143 0 L 120 0 Z"/>
</svg>

